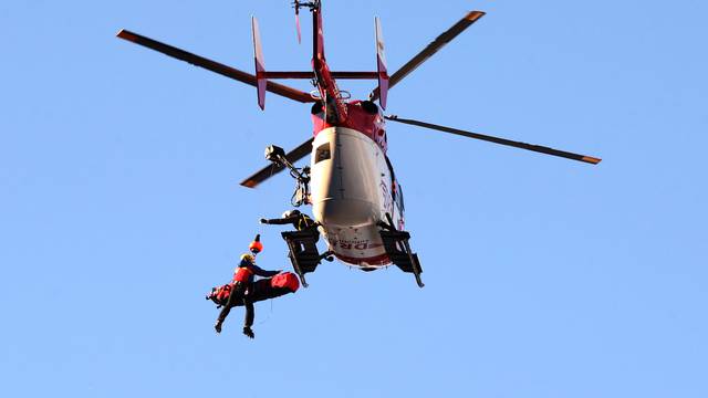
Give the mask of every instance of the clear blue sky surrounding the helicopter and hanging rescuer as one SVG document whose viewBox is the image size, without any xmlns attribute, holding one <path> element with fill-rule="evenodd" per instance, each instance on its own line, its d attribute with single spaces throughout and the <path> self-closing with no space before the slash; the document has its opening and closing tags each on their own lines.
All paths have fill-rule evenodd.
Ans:
<svg viewBox="0 0 708 398">
<path fill-rule="evenodd" d="M 426 287 L 326 263 L 257 305 L 256 341 L 240 310 L 217 336 L 204 293 L 256 232 L 261 265 L 288 266 L 257 220 L 292 181 L 238 181 L 309 137 L 309 107 L 260 112 L 253 87 L 114 34 L 250 71 L 254 14 L 267 66 L 305 70 L 288 2 L 3 1 L 0 395 L 708 396 L 708 4 L 324 7 L 334 70 L 375 67 L 374 15 L 395 70 L 487 11 L 388 111 L 603 163 L 392 125 Z"/>
</svg>

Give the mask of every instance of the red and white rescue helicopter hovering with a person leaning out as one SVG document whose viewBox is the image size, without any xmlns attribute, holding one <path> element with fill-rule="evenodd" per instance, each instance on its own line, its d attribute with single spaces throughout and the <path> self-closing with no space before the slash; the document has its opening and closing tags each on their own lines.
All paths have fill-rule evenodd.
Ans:
<svg viewBox="0 0 708 398">
<path fill-rule="evenodd" d="M 322 0 L 295 0 L 292 6 L 295 10 L 299 41 L 300 10 L 306 9 L 312 13 L 312 71 L 268 71 L 264 66 L 256 17 L 251 18 L 256 74 L 128 30 L 121 30 L 117 36 L 256 86 L 261 109 L 266 108 L 267 92 L 303 104 L 312 103 L 312 137 L 288 153 L 278 146 L 269 146 L 266 149 L 266 158 L 270 160 L 270 165 L 241 182 L 244 187 L 256 188 L 275 174 L 289 169 L 296 181 L 292 205 L 312 206 L 315 220 L 313 228 L 282 232 L 293 269 L 303 286 L 308 286 L 305 274 L 315 271 L 322 260 L 332 261 L 333 256 L 363 271 L 374 271 L 394 264 L 404 272 L 413 273 L 418 286 L 424 286 L 420 277 L 423 268 L 418 255 L 410 249 L 410 233 L 404 230 L 403 188 L 387 156 L 386 122 L 424 127 L 591 165 L 601 161 L 592 156 L 384 114 L 388 90 L 482 18 L 485 12 L 467 12 L 389 75 L 378 18 L 374 19 L 376 71 L 331 71 L 324 55 Z M 272 82 L 280 78 L 309 80 L 314 90 L 308 93 Z M 337 80 L 375 80 L 377 86 L 366 100 L 352 100 L 348 92 L 339 88 Z M 294 166 L 294 163 L 308 155 L 311 155 L 309 166 Z M 322 254 L 316 247 L 320 235 L 327 244 L 327 251 Z"/>
</svg>

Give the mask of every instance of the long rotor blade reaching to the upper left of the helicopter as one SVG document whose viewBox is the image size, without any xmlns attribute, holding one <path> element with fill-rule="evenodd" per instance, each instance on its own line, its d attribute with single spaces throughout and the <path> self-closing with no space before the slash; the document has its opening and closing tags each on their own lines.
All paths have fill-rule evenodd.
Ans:
<svg viewBox="0 0 708 398">
<path fill-rule="evenodd" d="M 188 62 L 195 66 L 201 66 L 211 72 L 216 72 L 220 75 L 231 77 L 233 80 L 237 80 L 246 84 L 250 84 L 252 86 L 257 85 L 256 76 L 253 76 L 250 73 L 239 71 L 231 66 L 227 66 L 216 61 L 208 60 L 206 57 L 177 49 L 169 44 L 160 43 L 156 40 L 146 38 L 144 35 L 131 32 L 125 29 L 121 30 L 116 35 L 121 39 L 162 52 L 165 55 L 169 55 L 178 60 Z M 301 103 L 315 102 L 315 100 L 313 100 L 312 96 L 305 92 L 301 92 L 300 90 L 288 87 L 285 85 L 273 83 L 273 82 L 268 82 L 268 86 L 266 87 L 266 90 L 273 94 L 282 95 L 287 98 L 299 101 Z"/>
</svg>

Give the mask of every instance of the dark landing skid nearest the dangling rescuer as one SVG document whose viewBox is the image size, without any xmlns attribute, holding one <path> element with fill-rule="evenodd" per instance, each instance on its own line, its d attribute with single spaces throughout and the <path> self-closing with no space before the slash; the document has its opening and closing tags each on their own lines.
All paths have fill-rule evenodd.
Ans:
<svg viewBox="0 0 708 398">
<path fill-rule="evenodd" d="M 305 281 L 306 273 L 314 272 L 322 260 L 334 260 L 332 259 L 333 253 L 331 251 L 324 252 L 323 254 L 320 254 L 317 251 L 316 243 L 320 233 L 315 228 L 304 231 L 281 232 L 281 235 L 288 243 L 288 256 L 290 258 L 293 270 L 298 276 L 300 276 L 300 282 L 302 282 L 303 287 L 309 286 Z"/>
</svg>

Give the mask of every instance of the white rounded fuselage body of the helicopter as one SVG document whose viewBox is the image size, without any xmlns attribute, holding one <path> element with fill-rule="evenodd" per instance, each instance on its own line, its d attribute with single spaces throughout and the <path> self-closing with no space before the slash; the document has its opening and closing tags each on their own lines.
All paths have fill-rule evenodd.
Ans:
<svg viewBox="0 0 708 398">
<path fill-rule="evenodd" d="M 403 192 L 382 146 L 356 129 L 326 127 L 312 147 L 312 212 L 330 250 L 363 270 L 391 264 L 379 222 L 388 213 L 403 229 Z"/>
</svg>

